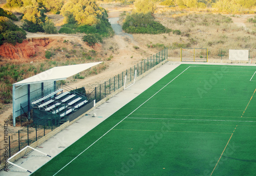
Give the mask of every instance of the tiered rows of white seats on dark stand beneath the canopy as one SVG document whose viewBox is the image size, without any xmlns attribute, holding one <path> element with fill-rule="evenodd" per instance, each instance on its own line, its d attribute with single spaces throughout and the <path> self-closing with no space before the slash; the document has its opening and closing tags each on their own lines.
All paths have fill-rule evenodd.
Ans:
<svg viewBox="0 0 256 176">
<path fill-rule="evenodd" d="M 84 89 L 84 87 L 82 88 Z M 52 124 L 59 125 L 70 120 L 70 115 L 87 105 L 86 94 L 82 95 L 78 91 L 67 91 L 67 87 L 35 99 L 31 102 L 33 107 L 33 120 L 38 125 Z M 66 91 L 66 92 L 64 92 Z M 84 90 L 85 92 L 85 90 Z M 79 115 L 81 115 L 79 113 Z M 77 115 L 77 117 L 79 116 Z"/>
</svg>

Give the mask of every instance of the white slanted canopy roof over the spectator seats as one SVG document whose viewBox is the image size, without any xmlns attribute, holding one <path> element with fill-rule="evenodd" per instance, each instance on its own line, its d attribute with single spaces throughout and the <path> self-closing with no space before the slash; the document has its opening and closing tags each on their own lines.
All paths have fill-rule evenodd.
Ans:
<svg viewBox="0 0 256 176">
<path fill-rule="evenodd" d="M 58 81 L 67 79 L 79 72 L 84 70 L 90 69 L 91 67 L 99 64 L 101 62 L 94 62 L 94 63 L 83 63 L 83 64 L 76 64 L 76 65 L 67 65 L 61 67 L 54 67 L 50 70 L 45 72 L 41 72 L 35 76 L 30 78 L 24 79 L 22 81 L 16 82 L 13 85 L 26 85 L 26 84 L 34 84 L 39 82 L 46 82 L 46 81 Z"/>
</svg>

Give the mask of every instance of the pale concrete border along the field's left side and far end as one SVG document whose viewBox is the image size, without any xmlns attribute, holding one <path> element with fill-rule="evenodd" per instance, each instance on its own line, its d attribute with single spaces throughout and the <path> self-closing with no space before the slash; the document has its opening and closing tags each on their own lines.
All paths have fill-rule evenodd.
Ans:
<svg viewBox="0 0 256 176">
<path fill-rule="evenodd" d="M 167 62 L 167 63 L 166 63 Z M 65 148 L 73 144 L 75 141 L 80 139 L 83 135 L 87 134 L 91 129 L 100 124 L 106 118 L 114 114 L 118 109 L 120 109 L 125 104 L 129 103 L 131 100 L 136 98 L 143 91 L 148 89 L 151 85 L 156 83 L 162 77 L 167 75 L 169 72 L 177 68 L 181 63 L 187 64 L 219 64 L 219 65 L 248 65 L 256 66 L 254 64 L 248 63 L 217 63 L 217 62 L 180 62 L 174 61 L 174 59 L 167 59 L 156 65 L 148 72 L 140 75 L 136 83 L 126 90 L 123 87 L 112 93 L 111 95 L 105 97 L 96 103 L 96 105 L 91 108 L 88 112 L 85 112 L 72 122 L 66 122 L 61 126 L 57 127 L 45 137 L 40 138 L 36 142 L 32 143 L 30 146 L 34 147 L 42 152 L 47 153 L 52 158 L 58 155 Z M 161 69 L 157 69 L 157 68 Z M 143 78 L 143 79 L 141 79 Z M 93 117 L 92 114 L 96 114 Z M 32 172 L 40 168 L 42 165 L 50 161 L 52 158 L 41 156 L 40 153 L 36 151 L 25 151 L 21 152 L 19 155 L 14 157 L 11 162 L 24 167 Z M 5 163 L 1 163 L 1 175 L 29 175 L 29 172 L 24 172 L 15 166 L 9 165 L 8 170 L 4 171 Z M 23 172 L 14 172 L 23 171 Z"/>
</svg>

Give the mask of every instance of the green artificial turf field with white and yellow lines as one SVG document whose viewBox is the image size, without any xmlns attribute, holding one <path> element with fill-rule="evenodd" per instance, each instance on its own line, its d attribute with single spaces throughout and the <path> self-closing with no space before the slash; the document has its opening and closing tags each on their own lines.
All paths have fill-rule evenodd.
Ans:
<svg viewBox="0 0 256 176">
<path fill-rule="evenodd" d="M 32 175 L 255 175 L 255 71 L 182 64 Z"/>
</svg>

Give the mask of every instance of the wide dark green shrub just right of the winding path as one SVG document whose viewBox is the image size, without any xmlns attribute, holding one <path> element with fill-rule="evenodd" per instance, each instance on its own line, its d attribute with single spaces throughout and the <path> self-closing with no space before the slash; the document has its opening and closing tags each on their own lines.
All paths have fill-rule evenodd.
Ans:
<svg viewBox="0 0 256 176">
<path fill-rule="evenodd" d="M 126 33 L 131 34 L 161 34 L 171 31 L 170 29 L 165 28 L 162 24 L 154 21 L 154 17 L 150 13 L 133 13 L 127 15 L 122 29 Z"/>
</svg>

